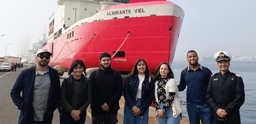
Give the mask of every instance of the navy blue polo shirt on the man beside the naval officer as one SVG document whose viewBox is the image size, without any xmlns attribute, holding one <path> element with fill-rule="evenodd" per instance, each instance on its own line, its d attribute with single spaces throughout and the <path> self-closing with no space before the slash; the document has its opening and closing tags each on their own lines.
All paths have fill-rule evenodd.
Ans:
<svg viewBox="0 0 256 124">
<path fill-rule="evenodd" d="M 206 91 L 209 84 L 210 76 L 212 75 L 212 71 L 208 69 L 209 77 L 207 78 L 205 76 L 205 71 L 203 70 L 203 66 L 200 65 L 200 68 L 197 70 L 191 70 L 190 67 L 188 67 L 188 70 L 185 74 L 185 80 L 180 80 L 180 84 L 178 85 L 179 91 L 183 91 L 187 86 L 187 102 L 191 102 L 194 104 L 203 104 L 207 103 L 206 101 Z M 182 74 L 181 72 L 181 77 Z M 180 90 L 183 89 L 183 90 Z"/>
</svg>

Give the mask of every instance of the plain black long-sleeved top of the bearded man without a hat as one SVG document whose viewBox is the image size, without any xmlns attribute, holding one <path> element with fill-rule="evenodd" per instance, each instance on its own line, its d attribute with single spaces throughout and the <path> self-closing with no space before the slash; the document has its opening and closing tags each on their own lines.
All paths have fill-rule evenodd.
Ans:
<svg viewBox="0 0 256 124">
<path fill-rule="evenodd" d="M 98 74 L 97 74 L 98 72 Z M 116 114 L 120 109 L 119 100 L 123 93 L 123 81 L 119 71 L 107 71 L 99 68 L 89 77 L 92 83 L 92 114 Z M 101 106 L 107 103 L 109 111 L 103 111 Z"/>
</svg>

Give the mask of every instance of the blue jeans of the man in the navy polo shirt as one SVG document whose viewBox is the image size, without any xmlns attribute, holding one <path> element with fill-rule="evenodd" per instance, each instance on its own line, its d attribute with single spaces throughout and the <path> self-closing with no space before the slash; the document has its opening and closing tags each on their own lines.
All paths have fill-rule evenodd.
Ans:
<svg viewBox="0 0 256 124">
<path fill-rule="evenodd" d="M 187 114 L 190 124 L 215 124 L 213 111 L 209 104 L 194 104 L 187 102 Z"/>
</svg>

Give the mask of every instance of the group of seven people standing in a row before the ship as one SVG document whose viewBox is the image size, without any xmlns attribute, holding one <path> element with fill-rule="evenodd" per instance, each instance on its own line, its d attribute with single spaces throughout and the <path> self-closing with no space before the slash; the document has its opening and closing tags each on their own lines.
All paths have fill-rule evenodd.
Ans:
<svg viewBox="0 0 256 124">
<path fill-rule="evenodd" d="M 89 104 L 92 124 L 116 124 L 122 95 L 123 124 L 148 124 L 152 101 L 160 124 L 179 124 L 179 91 L 186 87 L 190 124 L 240 124 L 244 85 L 239 75 L 229 72 L 232 58 L 227 52 L 216 53 L 216 74 L 198 63 L 194 50 L 187 52 L 189 66 L 181 72 L 179 85 L 168 63 L 150 74 L 144 59 L 136 61 L 123 85 L 120 72 L 111 68 L 110 54 L 102 53 L 101 67 L 89 79 L 83 61 L 75 60 L 60 87 L 58 72 L 48 66 L 50 56 L 49 50 L 39 49 L 37 65 L 21 71 L 14 83 L 11 98 L 20 109 L 19 124 L 51 124 L 57 107 L 60 124 L 84 124 Z"/>
</svg>

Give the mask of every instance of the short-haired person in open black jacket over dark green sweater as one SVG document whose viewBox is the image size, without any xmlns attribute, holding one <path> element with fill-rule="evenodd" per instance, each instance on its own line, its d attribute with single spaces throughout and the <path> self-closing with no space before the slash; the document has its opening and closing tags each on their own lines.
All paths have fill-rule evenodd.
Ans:
<svg viewBox="0 0 256 124">
<path fill-rule="evenodd" d="M 69 77 L 61 85 L 60 124 L 85 123 L 86 109 L 92 96 L 90 80 L 84 77 L 85 70 L 83 61 L 75 60 L 70 67 Z"/>
</svg>

